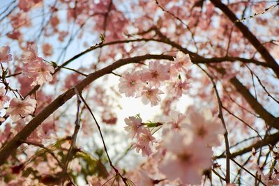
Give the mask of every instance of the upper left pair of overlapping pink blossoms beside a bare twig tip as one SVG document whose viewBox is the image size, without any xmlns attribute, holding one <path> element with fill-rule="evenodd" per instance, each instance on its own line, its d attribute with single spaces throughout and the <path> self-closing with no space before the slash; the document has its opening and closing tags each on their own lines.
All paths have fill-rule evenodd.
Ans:
<svg viewBox="0 0 279 186">
<path fill-rule="evenodd" d="M 31 86 L 41 85 L 45 82 L 52 81 L 54 68 L 43 62 L 43 59 L 37 56 L 36 45 L 28 45 L 27 49 L 22 52 L 22 73 L 24 76 L 33 80 Z"/>
</svg>

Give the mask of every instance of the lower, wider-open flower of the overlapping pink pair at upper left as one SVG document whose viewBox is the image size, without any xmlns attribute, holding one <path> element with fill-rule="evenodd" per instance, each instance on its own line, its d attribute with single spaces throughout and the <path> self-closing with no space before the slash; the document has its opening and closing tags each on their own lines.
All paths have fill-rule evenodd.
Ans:
<svg viewBox="0 0 279 186">
<path fill-rule="evenodd" d="M 43 63 L 43 60 L 36 60 L 33 63 L 28 63 L 24 65 L 22 69 L 23 75 L 32 78 L 33 82 L 31 86 L 36 84 L 44 84 L 45 82 L 52 81 L 52 74 L 54 68 L 51 65 Z"/>
</svg>

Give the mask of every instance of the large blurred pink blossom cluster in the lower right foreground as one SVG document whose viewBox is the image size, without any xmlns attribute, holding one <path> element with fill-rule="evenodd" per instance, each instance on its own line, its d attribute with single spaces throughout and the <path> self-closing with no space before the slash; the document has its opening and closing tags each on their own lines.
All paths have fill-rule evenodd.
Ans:
<svg viewBox="0 0 279 186">
<path fill-rule="evenodd" d="M 186 115 L 173 112 L 163 137 L 166 152 L 158 169 L 168 180 L 179 179 L 183 184 L 199 184 L 202 172 L 211 166 L 212 146 L 218 146 L 222 125 L 211 112 L 189 107 Z"/>
</svg>

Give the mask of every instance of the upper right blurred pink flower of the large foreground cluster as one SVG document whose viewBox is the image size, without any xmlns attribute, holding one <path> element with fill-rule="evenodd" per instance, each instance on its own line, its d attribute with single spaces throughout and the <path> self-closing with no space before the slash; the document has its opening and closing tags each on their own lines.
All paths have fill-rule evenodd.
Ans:
<svg viewBox="0 0 279 186">
<path fill-rule="evenodd" d="M 218 134 L 225 131 L 221 123 L 212 117 L 211 111 L 204 109 L 200 114 L 193 107 L 189 107 L 187 118 L 187 125 L 184 126 L 191 130 L 198 140 L 203 141 L 206 146 L 220 145 Z"/>
</svg>

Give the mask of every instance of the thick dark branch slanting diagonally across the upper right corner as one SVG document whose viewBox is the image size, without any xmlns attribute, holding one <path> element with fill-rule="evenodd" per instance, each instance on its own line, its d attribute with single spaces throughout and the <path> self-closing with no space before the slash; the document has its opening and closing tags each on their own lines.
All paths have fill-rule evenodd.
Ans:
<svg viewBox="0 0 279 186">
<path fill-rule="evenodd" d="M 243 33 L 243 36 L 249 40 L 249 42 L 257 49 L 257 52 L 262 55 L 262 58 L 266 61 L 266 63 L 269 63 L 270 65 L 273 65 L 273 71 L 279 77 L 279 65 L 276 63 L 275 59 L 273 59 L 273 56 L 269 54 L 269 51 L 262 45 L 261 42 L 254 36 L 254 34 L 248 29 L 246 25 L 244 25 L 242 22 L 237 22 L 237 17 L 234 15 L 232 10 L 229 10 L 229 8 L 222 3 L 220 0 L 211 0 L 211 2 L 216 6 L 217 8 L 220 8 L 222 12 L 229 17 L 229 20 L 231 20 L 234 25 Z"/>
</svg>

